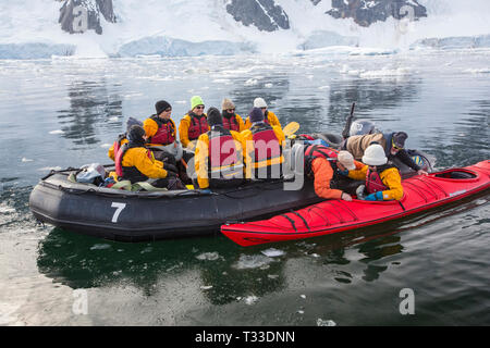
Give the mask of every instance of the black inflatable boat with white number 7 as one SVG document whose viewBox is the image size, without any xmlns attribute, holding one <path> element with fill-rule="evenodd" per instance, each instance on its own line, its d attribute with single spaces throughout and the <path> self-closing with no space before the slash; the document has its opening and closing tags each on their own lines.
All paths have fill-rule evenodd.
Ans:
<svg viewBox="0 0 490 348">
<path fill-rule="evenodd" d="M 53 172 L 33 189 L 29 207 L 42 222 L 120 241 L 180 238 L 219 232 L 224 222 L 267 216 L 320 201 L 313 183 L 284 190 L 284 182 L 236 188 L 126 191 L 69 181 Z"/>
</svg>

